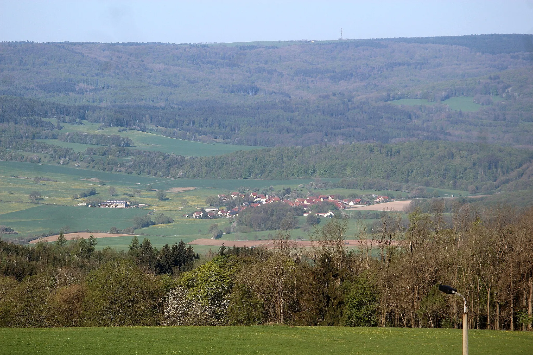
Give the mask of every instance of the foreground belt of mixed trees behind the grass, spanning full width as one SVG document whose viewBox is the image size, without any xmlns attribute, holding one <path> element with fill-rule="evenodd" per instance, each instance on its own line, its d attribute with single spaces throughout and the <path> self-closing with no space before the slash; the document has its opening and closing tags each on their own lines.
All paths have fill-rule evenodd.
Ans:
<svg viewBox="0 0 533 355">
<path fill-rule="evenodd" d="M 296 251 L 280 232 L 271 247 L 222 246 L 197 255 L 183 243 L 127 252 L 83 239 L 34 249 L 0 241 L 0 325 L 12 327 L 249 325 L 461 327 L 531 330 L 533 210 L 482 209 L 435 200 L 407 221 L 382 213 L 348 251 L 347 221 L 333 218 Z M 374 257 L 373 255 L 377 255 Z"/>
</svg>

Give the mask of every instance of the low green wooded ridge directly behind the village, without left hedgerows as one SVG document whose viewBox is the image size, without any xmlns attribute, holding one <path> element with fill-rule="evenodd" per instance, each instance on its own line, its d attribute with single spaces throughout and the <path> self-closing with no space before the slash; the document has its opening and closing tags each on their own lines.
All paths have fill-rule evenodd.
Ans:
<svg viewBox="0 0 533 355">
<path fill-rule="evenodd" d="M 492 183 L 492 190 L 498 179 L 529 166 L 531 159 L 529 150 L 426 141 L 265 148 L 200 158 L 150 152 L 126 167 L 183 178 L 370 177 L 457 189 Z"/>
</svg>

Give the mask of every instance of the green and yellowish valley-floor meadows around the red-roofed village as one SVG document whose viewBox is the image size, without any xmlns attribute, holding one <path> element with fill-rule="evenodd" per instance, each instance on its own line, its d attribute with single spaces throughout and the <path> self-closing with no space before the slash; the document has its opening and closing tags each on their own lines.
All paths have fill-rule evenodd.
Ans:
<svg viewBox="0 0 533 355">
<path fill-rule="evenodd" d="M 13 176 L 12 176 L 13 175 Z M 34 176 L 46 177 L 57 181 L 41 181 L 37 184 Z M 265 189 L 272 186 L 273 191 L 290 187 L 297 189 L 300 184 L 308 184 L 313 179 L 294 180 L 254 180 L 254 179 L 169 179 L 155 178 L 151 176 L 118 174 L 107 171 L 89 170 L 62 166 L 58 164 L 41 164 L 0 161 L 0 224 L 7 225 L 17 232 L 18 235 L 27 236 L 48 233 L 50 230 L 59 232 L 70 230 L 71 232 L 89 229 L 91 232 L 106 232 L 111 227 L 124 229 L 133 225 L 133 218 L 149 212 L 164 213 L 174 219 L 171 224 L 154 225 L 136 229 L 138 234 L 150 238 L 152 244 L 161 247 L 165 243 L 176 243 L 183 240 L 189 243 L 196 238 L 210 238 L 208 228 L 216 223 L 224 230 L 230 225 L 230 220 L 220 218 L 215 220 L 200 220 L 184 217 L 192 211 L 205 207 L 207 196 L 236 191 L 241 186 L 246 188 Z M 324 179 L 336 182 L 338 179 Z M 100 185 L 99 181 L 102 181 Z M 146 191 L 146 187 L 152 185 L 152 191 Z M 74 200 L 72 195 L 94 187 L 97 194 L 94 196 L 101 200 L 128 198 L 138 203 L 148 204 L 142 209 L 101 209 L 88 207 L 74 207 L 79 202 L 87 201 L 94 197 L 85 197 Z M 109 188 L 114 187 L 116 194 L 109 195 Z M 188 189 L 180 189 L 180 188 Z M 159 201 L 156 198 L 156 190 L 166 191 L 167 198 Z M 434 189 L 428 188 L 432 193 Z M 464 191 L 435 189 L 441 196 L 466 196 Z M 39 204 L 30 203 L 28 194 L 32 191 L 41 193 Z M 126 197 L 124 194 L 134 194 Z M 345 188 L 331 188 L 314 191 L 315 194 L 342 194 L 351 193 L 357 195 L 390 195 L 405 197 L 406 193 L 397 191 L 371 191 Z M 187 206 L 181 208 L 182 201 L 186 200 Z M 348 211 L 352 213 L 353 211 Z M 375 212 L 372 212 L 374 216 Z M 352 213 L 353 214 L 353 213 Z M 372 218 L 373 218 L 372 216 Z M 366 225 L 375 220 L 365 219 Z M 308 232 L 301 227 L 305 224 L 305 217 L 298 217 L 298 227 L 290 231 L 294 239 L 308 239 Z M 224 234 L 221 239 L 234 240 L 267 240 L 268 235 L 275 235 L 276 230 L 268 230 L 250 233 Z M 354 238 L 359 233 L 356 219 L 350 219 L 348 237 Z M 130 237 L 99 238 L 98 249 L 110 246 L 117 250 L 126 249 L 130 245 Z M 217 247 L 195 246 L 195 250 L 202 252 L 209 248 L 216 250 Z"/>
</svg>

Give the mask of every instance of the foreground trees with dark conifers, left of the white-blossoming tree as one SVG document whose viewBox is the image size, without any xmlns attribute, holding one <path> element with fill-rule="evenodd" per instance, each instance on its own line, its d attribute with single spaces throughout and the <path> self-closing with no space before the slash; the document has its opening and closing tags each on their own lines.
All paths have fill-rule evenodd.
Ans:
<svg viewBox="0 0 533 355">
<path fill-rule="evenodd" d="M 183 241 L 160 250 L 135 236 L 129 250 L 95 250 L 96 238 L 34 248 L 0 241 L 0 326 L 157 325 L 176 284 L 198 258 Z"/>
</svg>

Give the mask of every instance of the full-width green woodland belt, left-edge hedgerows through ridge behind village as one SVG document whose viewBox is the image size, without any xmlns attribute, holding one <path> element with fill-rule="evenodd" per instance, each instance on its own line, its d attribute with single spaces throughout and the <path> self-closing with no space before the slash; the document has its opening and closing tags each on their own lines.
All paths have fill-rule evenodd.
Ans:
<svg viewBox="0 0 533 355">
<path fill-rule="evenodd" d="M 9 126 L 4 129 L 7 133 L 12 133 Z M 185 157 L 130 150 L 120 146 L 91 147 L 83 153 L 75 153 L 71 148 L 23 139 L 20 133 L 18 139 L 13 137 L 7 134 L 0 137 L 0 159 L 40 162 L 40 156 L 23 152 L 45 153 L 50 157 L 48 162 L 60 163 L 63 159 L 62 163 L 79 162 L 85 168 L 157 177 L 340 177 L 347 178 L 339 185 L 345 188 L 401 189 L 398 184 L 415 184 L 476 193 L 496 189 L 508 192 L 530 189 L 533 174 L 531 151 L 478 143 L 418 141 L 314 145 L 237 151 L 220 156 Z M 112 138 L 108 136 L 106 140 Z M 115 159 L 120 157 L 131 159 Z M 397 184 L 393 186 L 383 184 L 382 181 L 395 181 Z"/>
</svg>

